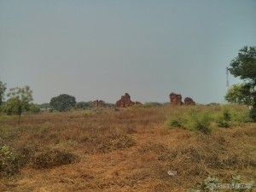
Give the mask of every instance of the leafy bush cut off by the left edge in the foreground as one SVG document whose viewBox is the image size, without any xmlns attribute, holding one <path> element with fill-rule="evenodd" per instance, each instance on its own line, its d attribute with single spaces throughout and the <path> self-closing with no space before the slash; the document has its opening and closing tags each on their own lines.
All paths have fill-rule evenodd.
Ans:
<svg viewBox="0 0 256 192">
<path fill-rule="evenodd" d="M 20 169 L 15 155 L 8 146 L 3 145 L 0 148 L 0 176 L 9 177 L 18 172 Z"/>
</svg>

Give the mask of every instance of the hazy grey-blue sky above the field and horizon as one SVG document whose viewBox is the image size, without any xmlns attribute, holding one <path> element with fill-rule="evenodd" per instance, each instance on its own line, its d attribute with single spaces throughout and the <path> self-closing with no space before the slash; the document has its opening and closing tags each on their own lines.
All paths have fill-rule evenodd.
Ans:
<svg viewBox="0 0 256 192">
<path fill-rule="evenodd" d="M 0 81 L 29 85 L 39 104 L 126 92 L 223 103 L 225 68 L 246 45 L 256 45 L 255 0 L 0 0 Z"/>
</svg>

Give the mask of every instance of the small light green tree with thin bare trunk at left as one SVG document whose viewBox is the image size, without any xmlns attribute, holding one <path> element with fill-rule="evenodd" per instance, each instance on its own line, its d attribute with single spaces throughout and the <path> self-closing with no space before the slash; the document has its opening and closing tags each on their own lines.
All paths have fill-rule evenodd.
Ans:
<svg viewBox="0 0 256 192">
<path fill-rule="evenodd" d="M 4 103 L 3 111 L 7 114 L 19 115 L 18 123 L 22 112 L 29 111 L 32 106 L 32 90 L 29 86 L 23 88 L 15 87 L 9 90 L 7 94 L 9 99 Z"/>
</svg>

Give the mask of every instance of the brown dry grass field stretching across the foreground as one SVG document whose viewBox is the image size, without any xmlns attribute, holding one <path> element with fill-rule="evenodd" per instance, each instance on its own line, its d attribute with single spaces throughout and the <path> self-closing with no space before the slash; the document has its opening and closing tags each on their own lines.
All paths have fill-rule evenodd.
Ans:
<svg viewBox="0 0 256 192">
<path fill-rule="evenodd" d="M 187 191 L 208 176 L 256 181 L 256 124 L 211 123 L 211 134 L 166 125 L 190 110 L 221 113 L 219 106 L 95 108 L 24 114 L 20 125 L 2 115 L 0 191 Z"/>
</svg>

